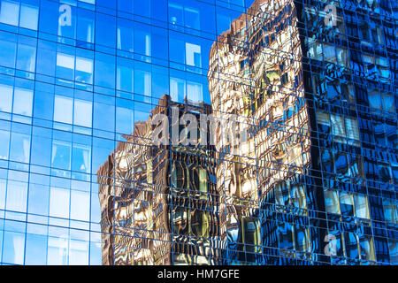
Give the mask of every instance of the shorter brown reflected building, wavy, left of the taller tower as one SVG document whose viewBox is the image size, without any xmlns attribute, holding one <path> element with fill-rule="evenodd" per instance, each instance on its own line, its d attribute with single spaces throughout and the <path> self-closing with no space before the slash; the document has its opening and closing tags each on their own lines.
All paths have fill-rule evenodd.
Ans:
<svg viewBox="0 0 398 283">
<path fill-rule="evenodd" d="M 180 133 L 180 118 L 199 119 L 201 112 L 209 114 L 210 106 L 162 96 L 149 119 L 136 122 L 99 168 L 103 264 L 219 263 L 214 150 L 153 144 L 159 126 L 152 125 L 154 116 L 165 115 Z"/>
</svg>

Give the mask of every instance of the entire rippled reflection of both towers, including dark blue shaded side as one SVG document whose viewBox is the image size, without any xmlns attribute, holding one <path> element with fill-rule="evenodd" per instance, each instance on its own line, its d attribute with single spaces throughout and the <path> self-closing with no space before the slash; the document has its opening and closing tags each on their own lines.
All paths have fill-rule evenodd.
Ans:
<svg viewBox="0 0 398 283">
<path fill-rule="evenodd" d="M 352 23 L 343 16 L 349 9 L 334 7 L 330 25 L 325 4 L 256 0 L 218 34 L 207 73 L 211 106 L 172 102 L 174 94 L 151 111 L 165 114 L 171 129 L 179 124 L 173 108 L 179 118 L 211 114 L 217 122 L 206 127 L 205 145 L 155 146 L 151 118 L 134 124 L 98 171 L 103 264 L 394 258 L 391 75 L 381 55 L 361 55 L 364 70 L 356 70 L 358 54 L 348 52 L 356 44 L 347 35 Z M 376 25 L 367 40 L 382 44 L 382 35 Z M 361 48 L 371 50 L 367 40 Z M 378 155 L 383 144 L 385 157 L 364 157 L 366 150 Z"/>
</svg>

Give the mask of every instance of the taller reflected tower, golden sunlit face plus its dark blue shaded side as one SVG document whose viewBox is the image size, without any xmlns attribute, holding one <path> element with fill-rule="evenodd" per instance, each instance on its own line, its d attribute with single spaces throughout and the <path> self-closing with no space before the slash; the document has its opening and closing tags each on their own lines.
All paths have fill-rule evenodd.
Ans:
<svg viewBox="0 0 398 283">
<path fill-rule="evenodd" d="M 387 240 L 374 236 L 381 234 L 371 221 L 381 219 L 377 203 L 394 199 L 394 186 L 387 185 L 394 183 L 394 169 L 379 167 L 387 180 L 381 185 L 369 168 L 396 164 L 390 147 L 397 137 L 396 106 L 378 45 L 392 39 L 377 14 L 369 17 L 371 25 L 361 22 L 371 31 L 364 27 L 360 42 L 350 37 L 356 36 L 351 8 L 258 0 L 210 50 L 213 112 L 218 119 L 235 119 L 238 132 L 248 131 L 248 139 L 236 144 L 221 136 L 227 126 L 218 131 L 226 263 L 375 264 L 386 257 L 376 246 L 387 249 Z M 367 2 L 357 9 L 378 13 L 386 4 Z M 361 49 L 366 51 L 353 51 Z M 370 127 L 370 119 L 390 134 Z M 371 136 L 378 136 L 377 128 L 382 134 L 375 148 Z M 364 150 L 378 155 L 383 147 L 388 153 L 381 160 L 363 157 Z"/>
</svg>

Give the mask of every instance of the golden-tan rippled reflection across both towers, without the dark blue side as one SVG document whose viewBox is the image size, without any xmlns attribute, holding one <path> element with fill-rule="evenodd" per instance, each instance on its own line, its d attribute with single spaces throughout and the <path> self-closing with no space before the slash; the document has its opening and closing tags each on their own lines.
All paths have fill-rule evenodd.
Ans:
<svg viewBox="0 0 398 283">
<path fill-rule="evenodd" d="M 97 172 L 103 264 L 220 264 L 228 242 L 248 256 L 262 252 L 259 203 L 310 165 L 296 20 L 292 0 L 256 0 L 212 45 L 211 107 L 163 96 L 119 142 Z M 215 147 L 154 146 L 151 117 L 163 113 L 173 126 L 172 107 L 179 118 L 212 114 L 237 127 L 206 132 Z M 245 130 L 240 142 L 221 136 Z"/>
</svg>

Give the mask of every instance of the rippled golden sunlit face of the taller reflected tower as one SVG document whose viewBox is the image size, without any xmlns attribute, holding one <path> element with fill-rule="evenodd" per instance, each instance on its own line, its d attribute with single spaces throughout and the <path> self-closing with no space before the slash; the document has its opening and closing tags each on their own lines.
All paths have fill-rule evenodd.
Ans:
<svg viewBox="0 0 398 283">
<path fill-rule="evenodd" d="M 218 137 L 218 190 L 226 210 L 221 237 L 236 252 L 228 260 L 262 262 L 256 254 L 274 229 L 264 223 L 265 211 L 275 210 L 268 195 L 291 187 L 295 202 L 305 203 L 302 174 L 311 142 L 296 21 L 293 1 L 257 0 L 210 50 L 213 111 L 218 119 L 236 115 L 248 133 L 234 145 Z"/>
</svg>

